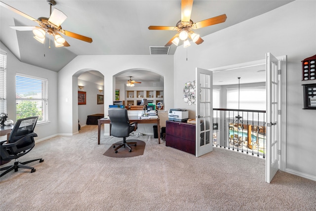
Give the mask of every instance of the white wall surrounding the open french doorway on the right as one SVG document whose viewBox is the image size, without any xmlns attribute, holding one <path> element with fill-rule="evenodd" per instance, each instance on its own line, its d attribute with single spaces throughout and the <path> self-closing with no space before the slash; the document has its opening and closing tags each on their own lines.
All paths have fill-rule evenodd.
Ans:
<svg viewBox="0 0 316 211">
<path fill-rule="evenodd" d="M 261 60 L 266 52 L 287 55 L 286 170 L 316 180 L 316 110 L 302 110 L 301 85 L 316 83 L 301 81 L 301 61 L 316 54 L 315 9 L 316 1 L 296 0 L 203 37 L 202 44 L 192 43 L 188 48 L 188 61 L 186 49 L 178 47 L 174 55 L 174 106 L 190 109 L 195 115 L 195 107 L 182 99 L 184 83 L 195 80 L 195 67 L 211 69 Z"/>
</svg>

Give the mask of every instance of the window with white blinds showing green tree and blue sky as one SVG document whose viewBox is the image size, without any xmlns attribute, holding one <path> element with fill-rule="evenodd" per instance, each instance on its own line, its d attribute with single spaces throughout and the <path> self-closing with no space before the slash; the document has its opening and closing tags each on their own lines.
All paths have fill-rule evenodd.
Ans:
<svg viewBox="0 0 316 211">
<path fill-rule="evenodd" d="M 38 123 L 48 122 L 47 79 L 18 73 L 16 81 L 16 119 L 38 116 Z"/>
</svg>

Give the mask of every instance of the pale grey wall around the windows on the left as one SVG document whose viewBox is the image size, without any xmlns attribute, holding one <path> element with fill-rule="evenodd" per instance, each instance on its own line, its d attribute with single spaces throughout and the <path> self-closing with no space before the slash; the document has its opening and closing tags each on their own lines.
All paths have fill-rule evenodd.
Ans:
<svg viewBox="0 0 316 211">
<path fill-rule="evenodd" d="M 12 52 L 1 42 L 1 49 L 7 52 L 6 69 L 6 96 L 8 119 L 16 122 L 16 98 L 15 98 L 15 76 L 16 73 L 23 73 L 30 76 L 37 76 L 48 79 L 48 119 L 49 123 L 37 124 L 35 132 L 38 137 L 36 141 L 53 137 L 58 134 L 57 130 L 57 73 L 33 65 L 20 62 Z M 44 58 L 43 58 L 44 59 Z"/>
</svg>

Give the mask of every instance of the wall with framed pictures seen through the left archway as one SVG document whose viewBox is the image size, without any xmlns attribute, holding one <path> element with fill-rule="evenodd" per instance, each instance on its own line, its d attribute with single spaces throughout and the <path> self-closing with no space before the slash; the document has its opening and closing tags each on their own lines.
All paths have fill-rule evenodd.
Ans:
<svg viewBox="0 0 316 211">
<path fill-rule="evenodd" d="M 99 89 L 104 89 L 103 86 L 94 84 L 87 81 L 82 81 L 78 79 L 78 84 L 82 84 L 84 88 L 78 91 L 86 92 L 86 104 L 78 105 L 78 119 L 80 126 L 85 126 L 88 115 L 93 114 L 104 114 L 104 104 L 97 104 L 97 95 L 100 93 Z"/>
</svg>

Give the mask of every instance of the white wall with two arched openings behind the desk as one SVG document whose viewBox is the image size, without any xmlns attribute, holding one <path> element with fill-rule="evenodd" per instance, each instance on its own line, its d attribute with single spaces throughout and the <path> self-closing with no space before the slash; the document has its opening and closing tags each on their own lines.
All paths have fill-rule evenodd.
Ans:
<svg viewBox="0 0 316 211">
<path fill-rule="evenodd" d="M 166 109 L 173 107 L 173 55 L 85 55 L 77 56 L 58 72 L 59 132 L 71 135 L 78 132 L 78 85 L 74 76 L 88 70 L 104 75 L 104 115 L 115 99 L 114 75 L 129 69 L 144 69 L 164 77 L 164 101 Z M 70 83 L 72 82 L 72 84 Z"/>
</svg>

